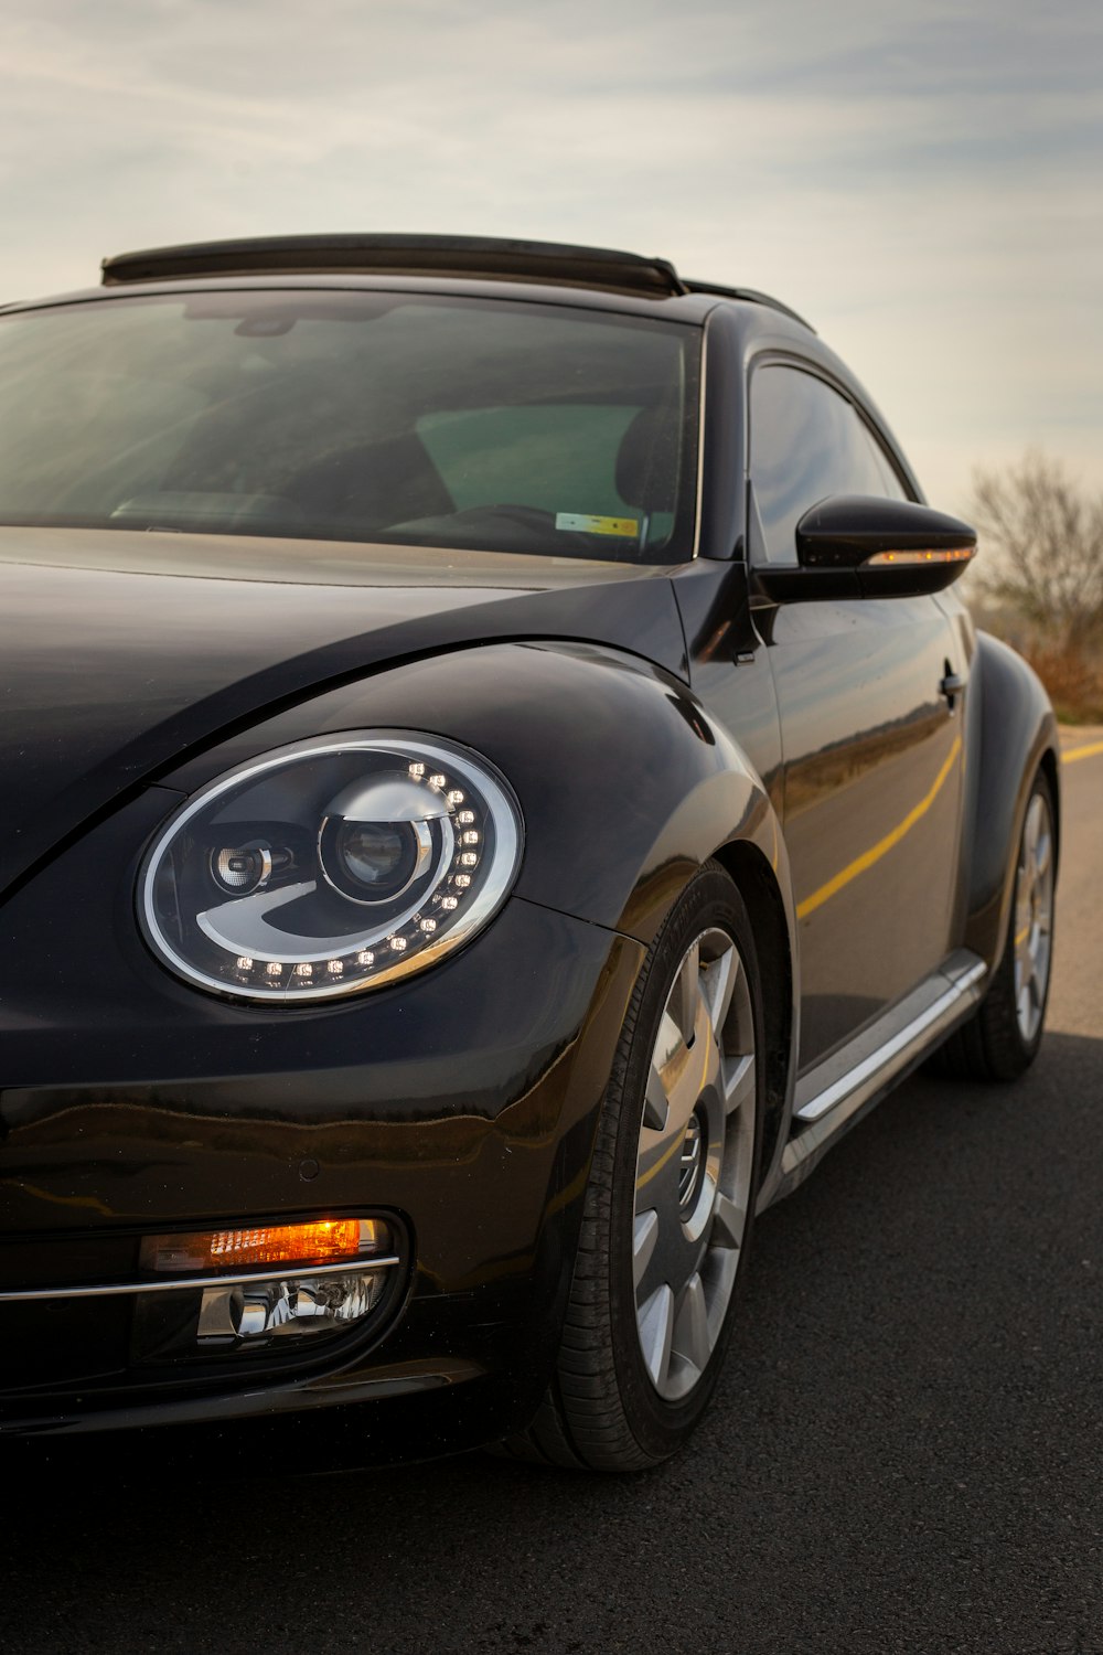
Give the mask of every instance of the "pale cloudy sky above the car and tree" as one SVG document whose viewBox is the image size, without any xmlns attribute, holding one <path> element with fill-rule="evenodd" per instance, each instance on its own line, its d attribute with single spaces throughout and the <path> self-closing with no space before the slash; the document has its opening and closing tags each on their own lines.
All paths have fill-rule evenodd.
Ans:
<svg viewBox="0 0 1103 1655">
<path fill-rule="evenodd" d="M 104 253 L 511 235 L 762 288 L 931 503 L 1103 490 L 1098 0 L 5 0 L 0 301 Z"/>
</svg>

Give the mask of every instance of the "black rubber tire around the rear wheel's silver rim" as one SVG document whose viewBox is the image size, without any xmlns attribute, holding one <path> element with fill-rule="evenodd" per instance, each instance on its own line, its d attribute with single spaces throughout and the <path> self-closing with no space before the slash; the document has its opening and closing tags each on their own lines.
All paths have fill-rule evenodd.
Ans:
<svg viewBox="0 0 1103 1655">
<path fill-rule="evenodd" d="M 1030 832 L 1035 799 L 1042 801 L 1048 832 L 1048 917 L 1047 917 L 1047 958 L 1043 981 L 1034 998 L 1037 1026 L 1024 1028 L 1029 1018 L 1020 1016 L 1022 968 L 1020 968 L 1020 907 L 1030 902 L 1030 892 L 1024 890 L 1027 880 L 1027 839 Z M 961 1081 L 1017 1081 L 1039 1054 L 1042 1033 L 1045 1029 L 1045 1008 L 1050 993 L 1052 960 L 1053 960 L 1053 880 L 1057 872 L 1057 811 L 1053 808 L 1053 789 L 1045 771 L 1039 771 L 1030 788 L 1024 823 L 1019 832 L 1019 849 L 1015 856 L 1015 889 L 1007 920 L 1007 940 L 1000 962 L 996 967 L 989 990 L 967 1023 L 962 1023 L 944 1046 L 934 1054 L 933 1067 L 938 1074 Z"/>
</svg>

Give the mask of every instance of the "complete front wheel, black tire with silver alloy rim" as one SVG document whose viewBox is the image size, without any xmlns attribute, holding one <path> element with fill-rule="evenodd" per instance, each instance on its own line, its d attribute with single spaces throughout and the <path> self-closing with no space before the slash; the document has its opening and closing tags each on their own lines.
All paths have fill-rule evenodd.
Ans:
<svg viewBox="0 0 1103 1655">
<path fill-rule="evenodd" d="M 734 945 L 734 967 L 724 963 L 731 955 L 724 952 L 723 937 Z M 729 980 L 733 986 L 724 988 Z M 691 1015 L 686 1010 L 690 985 L 696 1008 Z M 675 995 L 676 1011 L 671 1011 Z M 713 1001 L 718 1008 L 726 1006 L 726 1013 L 709 1021 Z M 686 1054 L 696 1051 L 701 1072 L 711 1049 L 723 1056 L 714 1079 L 703 1082 L 681 1137 L 681 1129 L 673 1124 L 673 1091 L 668 1094 L 668 1137 L 663 1139 L 652 1130 L 657 1106 L 647 1092 L 648 1079 L 655 1089 L 660 1074 L 675 1072 L 675 1056 L 665 1067 L 653 1067 L 653 1063 L 660 1034 L 670 1043 L 678 1013 L 681 1028 L 691 1021 L 693 1033 L 683 1046 Z M 723 1029 L 721 1039 L 714 1038 L 716 1021 Z M 673 1053 L 673 1046 L 666 1044 L 663 1051 Z M 762 1051 L 762 993 L 747 912 L 723 869 L 708 864 L 666 919 L 637 985 L 602 1107 L 556 1375 L 536 1420 L 528 1432 L 503 1445 L 506 1451 L 557 1466 L 637 1471 L 666 1460 L 698 1423 L 723 1364 L 751 1241 L 759 1183 Z M 678 1082 L 678 1107 L 696 1084 L 695 1079 L 686 1089 L 683 1081 Z M 718 1120 L 723 1122 L 719 1134 Z M 648 1154 L 647 1134 L 657 1140 L 653 1173 L 640 1177 L 638 1168 Z M 666 1142 L 671 1149 L 663 1149 Z M 723 1145 L 719 1150 L 718 1144 Z M 676 1158 L 673 1150 L 680 1150 Z M 652 1175 L 655 1193 L 642 1197 L 638 1192 Z M 700 1193 L 695 1195 L 693 1180 L 698 1178 Z M 746 1190 L 742 1206 L 738 1202 L 741 1190 Z M 678 1192 L 680 1203 L 671 1206 Z M 657 1210 L 661 1203 L 663 1215 L 661 1223 L 655 1218 L 660 1240 L 647 1250 L 638 1289 L 647 1294 L 652 1274 L 658 1273 L 658 1286 L 647 1304 L 666 1307 L 671 1331 L 665 1367 L 661 1337 L 648 1346 L 657 1377 L 645 1364 L 645 1307 L 637 1302 L 633 1278 L 633 1240 L 640 1259 L 645 1253 L 640 1226 L 647 1231 L 653 1216 L 640 1213 L 642 1200 L 655 1200 Z M 738 1245 L 733 1240 L 736 1211 L 742 1218 Z M 696 1266 L 695 1250 L 700 1250 Z M 683 1268 L 696 1271 L 688 1276 L 680 1299 L 663 1276 L 663 1269 L 671 1268 L 663 1264 L 668 1258 L 676 1261 L 676 1269 L 671 1269 L 675 1281 Z M 655 1322 L 647 1326 L 650 1329 Z M 680 1329 L 686 1326 L 691 1327 L 688 1349 L 696 1360 L 676 1349 Z M 685 1347 L 685 1331 L 681 1341 Z"/>
</svg>

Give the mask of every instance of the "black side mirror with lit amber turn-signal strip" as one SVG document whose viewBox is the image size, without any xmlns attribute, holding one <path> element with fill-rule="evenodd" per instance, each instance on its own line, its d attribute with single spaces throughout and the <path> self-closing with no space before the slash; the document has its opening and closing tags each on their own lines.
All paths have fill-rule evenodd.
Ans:
<svg viewBox="0 0 1103 1655">
<path fill-rule="evenodd" d="M 756 569 L 776 602 L 941 592 L 976 556 L 967 523 L 911 500 L 832 495 L 797 523 L 797 563 Z"/>
</svg>

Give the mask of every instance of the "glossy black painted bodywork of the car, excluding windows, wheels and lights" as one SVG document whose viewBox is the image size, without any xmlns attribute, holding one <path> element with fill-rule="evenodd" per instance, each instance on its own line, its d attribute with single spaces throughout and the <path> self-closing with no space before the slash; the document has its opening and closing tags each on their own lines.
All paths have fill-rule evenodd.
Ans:
<svg viewBox="0 0 1103 1655">
<path fill-rule="evenodd" d="M 1037 680 L 976 639 L 954 594 L 764 601 L 749 566 L 756 362 L 830 377 L 921 500 L 862 387 L 764 306 L 575 298 L 704 329 L 695 563 L 0 531 L 15 715 L 0 730 L 15 801 L 0 837 L 0 1284 L 127 1279 L 142 1235 L 207 1220 L 372 1210 L 412 1238 L 408 1299 L 380 1344 L 351 1336 L 246 1394 L 198 1367 L 137 1374 L 126 1316 L 96 1334 L 84 1311 L 21 1311 L 28 1347 L 38 1327 L 46 1349 L 86 1337 L 89 1354 L 8 1394 L 8 1422 L 326 1407 L 336 1443 L 356 1433 L 382 1458 L 501 1435 L 552 1369 L 625 1010 L 703 861 L 736 877 L 769 990 L 762 1200 L 799 1067 L 953 947 L 999 957 L 1029 781 L 1055 765 Z M 170 976 L 134 923 L 157 828 L 235 763 L 357 728 L 446 735 L 508 776 L 526 852 L 501 914 L 433 970 L 347 1003 L 241 1006 Z M 857 866 L 903 823 L 903 861 Z"/>
</svg>

